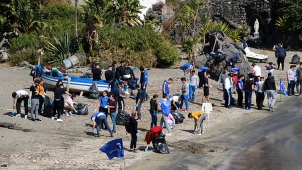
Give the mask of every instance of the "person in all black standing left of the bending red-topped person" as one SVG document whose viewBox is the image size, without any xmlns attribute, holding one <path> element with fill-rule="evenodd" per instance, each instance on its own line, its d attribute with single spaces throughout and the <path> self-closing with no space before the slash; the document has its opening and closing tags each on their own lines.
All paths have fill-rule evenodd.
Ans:
<svg viewBox="0 0 302 170">
<path fill-rule="evenodd" d="M 131 142 L 130 142 L 130 151 L 136 152 L 136 142 L 137 138 L 139 138 L 139 133 L 137 132 L 137 121 L 135 120 L 136 117 L 136 110 L 131 112 L 131 117 L 129 118 L 129 132 L 131 133 Z"/>
</svg>

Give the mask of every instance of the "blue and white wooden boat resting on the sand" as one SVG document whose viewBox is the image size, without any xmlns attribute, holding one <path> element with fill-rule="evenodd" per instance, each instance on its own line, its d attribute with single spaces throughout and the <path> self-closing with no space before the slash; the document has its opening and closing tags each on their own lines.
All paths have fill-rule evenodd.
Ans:
<svg viewBox="0 0 302 170">
<path fill-rule="evenodd" d="M 90 86 L 94 83 L 94 80 L 91 78 L 82 78 L 75 75 L 68 75 L 64 77 L 53 77 L 46 74 L 41 74 L 41 77 L 44 80 L 44 84 L 48 90 L 52 90 L 55 86 L 58 79 L 61 79 L 64 87 L 67 87 L 68 78 L 70 78 L 69 82 L 69 92 L 84 92 L 89 93 Z M 108 82 L 105 82 L 104 80 L 97 81 L 98 84 L 98 90 L 99 92 L 103 92 L 105 90 L 108 90 Z M 109 89 L 110 92 L 110 89 Z"/>
</svg>

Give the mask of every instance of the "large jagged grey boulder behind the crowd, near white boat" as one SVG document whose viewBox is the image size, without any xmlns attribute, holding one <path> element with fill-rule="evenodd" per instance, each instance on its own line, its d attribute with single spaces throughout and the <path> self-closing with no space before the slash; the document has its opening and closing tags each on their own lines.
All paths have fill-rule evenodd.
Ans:
<svg viewBox="0 0 302 170">
<path fill-rule="evenodd" d="M 217 35 L 217 42 L 215 43 Z M 228 66 L 228 71 L 231 70 L 231 59 L 234 56 L 238 56 L 240 62 L 238 62 L 238 67 L 240 68 L 240 74 L 245 75 L 247 77 L 248 72 L 251 72 L 251 67 L 249 62 L 245 59 L 245 51 L 241 49 L 241 47 L 237 46 L 232 42 L 232 40 L 225 36 L 225 34 L 221 31 L 210 32 L 206 35 L 208 40 L 208 44 L 205 44 L 203 55 L 198 55 L 195 58 L 195 67 L 201 68 L 204 65 L 208 65 L 210 67 L 210 74 L 212 78 L 218 79 L 220 72 L 223 70 L 224 66 Z M 214 46 L 215 44 L 215 46 Z M 217 50 L 220 49 L 223 55 L 219 58 L 215 58 L 210 55 L 214 47 L 214 51 L 217 53 Z"/>
</svg>

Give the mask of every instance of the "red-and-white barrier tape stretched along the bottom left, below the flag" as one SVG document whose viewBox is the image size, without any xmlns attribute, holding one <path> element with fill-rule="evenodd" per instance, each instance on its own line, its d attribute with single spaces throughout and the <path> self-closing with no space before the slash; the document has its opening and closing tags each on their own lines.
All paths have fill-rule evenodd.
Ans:
<svg viewBox="0 0 302 170">
<path fill-rule="evenodd" d="M 47 161 L 54 161 L 54 162 L 62 162 L 62 163 L 75 163 L 75 164 L 84 164 L 84 165 L 93 165 L 93 166 L 104 166 L 104 167 L 112 167 L 116 169 L 121 169 L 121 166 L 113 166 L 109 164 L 100 164 L 100 163 L 87 163 L 87 162 L 77 162 L 77 161 L 67 161 L 67 160 L 55 160 L 55 159 L 48 159 L 42 157 L 30 157 L 30 156 L 20 156 L 20 155 L 10 155 L 0 153 L 0 156 L 7 156 L 7 157 L 14 157 L 14 158 L 24 158 L 24 159 L 33 159 L 33 160 L 47 160 Z"/>
</svg>

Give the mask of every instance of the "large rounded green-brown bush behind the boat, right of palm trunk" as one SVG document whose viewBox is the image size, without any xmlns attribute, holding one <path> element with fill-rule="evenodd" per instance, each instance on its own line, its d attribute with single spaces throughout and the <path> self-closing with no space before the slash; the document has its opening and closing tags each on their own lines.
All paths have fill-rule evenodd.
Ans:
<svg viewBox="0 0 302 170">
<path fill-rule="evenodd" d="M 133 26 L 113 29 L 104 26 L 99 30 L 101 60 L 125 60 L 126 64 L 153 67 L 171 65 L 178 59 L 178 52 L 162 35 L 150 27 Z"/>
</svg>

